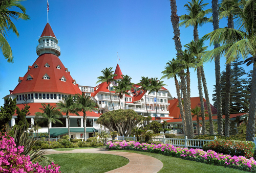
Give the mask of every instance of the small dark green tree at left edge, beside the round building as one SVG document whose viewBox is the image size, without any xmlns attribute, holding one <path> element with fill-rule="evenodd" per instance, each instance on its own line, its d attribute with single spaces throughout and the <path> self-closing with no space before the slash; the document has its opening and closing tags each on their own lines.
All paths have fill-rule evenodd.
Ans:
<svg viewBox="0 0 256 173">
<path fill-rule="evenodd" d="M 12 119 L 12 115 L 15 113 L 16 98 L 14 100 L 12 98 L 5 98 L 4 107 L 1 106 L 0 110 L 0 129 L 2 129 Z"/>
</svg>

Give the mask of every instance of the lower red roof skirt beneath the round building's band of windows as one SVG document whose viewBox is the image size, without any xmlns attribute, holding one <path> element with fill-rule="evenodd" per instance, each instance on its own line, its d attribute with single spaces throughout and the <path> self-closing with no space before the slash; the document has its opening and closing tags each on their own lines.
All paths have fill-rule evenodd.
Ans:
<svg viewBox="0 0 256 173">
<path fill-rule="evenodd" d="M 46 105 L 48 105 L 48 103 L 45 103 Z M 27 115 L 27 116 L 34 116 L 35 115 L 35 112 L 42 112 L 42 110 L 40 110 L 39 108 L 42 108 L 42 105 L 41 105 L 41 103 L 29 103 L 28 104 L 29 106 L 30 106 L 30 108 L 29 108 L 29 115 Z M 55 103 L 50 103 L 50 105 L 51 106 L 54 106 L 54 107 L 56 107 L 56 104 Z M 19 109 L 22 109 L 22 108 L 24 108 L 25 106 L 23 105 L 23 104 L 19 104 L 19 105 L 17 105 L 17 107 L 19 108 Z M 63 115 L 66 115 L 66 113 L 62 113 Z M 76 114 L 70 114 L 71 116 L 77 116 Z M 79 112 L 79 115 L 80 116 L 83 116 L 83 113 L 82 112 Z M 99 115 L 97 114 L 97 113 L 95 113 L 95 112 L 86 112 L 86 115 L 87 116 L 92 116 L 92 117 L 99 117 Z M 17 116 L 17 114 L 16 114 L 16 111 L 15 111 L 15 113 L 14 113 L 14 116 Z"/>
</svg>

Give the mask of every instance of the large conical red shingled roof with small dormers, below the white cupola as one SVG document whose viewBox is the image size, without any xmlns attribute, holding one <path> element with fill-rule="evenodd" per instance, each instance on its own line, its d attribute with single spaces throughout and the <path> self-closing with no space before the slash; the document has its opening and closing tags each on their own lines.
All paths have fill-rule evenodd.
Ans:
<svg viewBox="0 0 256 173">
<path fill-rule="evenodd" d="M 34 64 L 38 67 L 34 68 Z M 45 67 L 48 63 L 50 67 Z M 60 92 L 67 94 L 82 94 L 77 85 L 72 83 L 72 77 L 70 73 L 65 71 L 65 66 L 60 59 L 53 54 L 42 54 L 34 62 L 33 68 L 31 68 L 23 77 L 24 80 L 19 83 L 13 90 L 13 93 L 22 92 Z M 57 69 L 56 66 L 60 65 L 61 69 Z M 50 77 L 49 80 L 44 80 L 42 77 L 47 73 Z M 31 81 L 27 80 L 28 75 L 33 78 Z M 61 77 L 67 79 L 66 82 L 60 81 Z"/>
</svg>

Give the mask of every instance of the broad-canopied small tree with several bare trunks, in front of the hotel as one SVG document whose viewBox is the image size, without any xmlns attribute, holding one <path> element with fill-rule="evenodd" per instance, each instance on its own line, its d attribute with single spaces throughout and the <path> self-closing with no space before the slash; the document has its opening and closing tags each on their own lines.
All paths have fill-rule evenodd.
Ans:
<svg viewBox="0 0 256 173">
<path fill-rule="evenodd" d="M 117 131 L 121 136 L 128 136 L 142 119 L 143 116 L 138 115 L 134 110 L 118 109 L 103 113 L 96 122 L 112 132 Z"/>
</svg>

